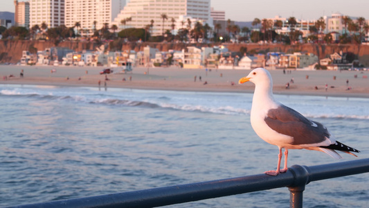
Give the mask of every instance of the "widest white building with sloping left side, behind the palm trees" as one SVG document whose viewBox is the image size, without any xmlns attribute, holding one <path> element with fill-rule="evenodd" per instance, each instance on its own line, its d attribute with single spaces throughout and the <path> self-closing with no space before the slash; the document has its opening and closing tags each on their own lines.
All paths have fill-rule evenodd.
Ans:
<svg viewBox="0 0 369 208">
<path fill-rule="evenodd" d="M 154 20 L 154 25 L 150 32 L 152 35 L 161 35 L 163 29 L 163 19 L 161 14 L 167 15 L 164 21 L 164 31 L 172 31 L 172 21 L 174 18 L 179 21 L 179 16 L 192 17 L 204 20 L 210 25 L 213 21 L 210 18 L 210 0 L 131 0 L 124 10 L 120 11 L 112 24 L 118 28 L 145 28 Z M 132 18 L 125 26 L 120 21 Z"/>
</svg>

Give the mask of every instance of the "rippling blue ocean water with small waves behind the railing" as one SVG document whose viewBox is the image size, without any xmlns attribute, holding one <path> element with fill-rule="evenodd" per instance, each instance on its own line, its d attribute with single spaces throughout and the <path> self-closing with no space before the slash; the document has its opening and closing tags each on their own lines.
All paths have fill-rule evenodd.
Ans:
<svg viewBox="0 0 369 208">
<path fill-rule="evenodd" d="M 369 157 L 369 99 L 276 95 Z M 250 124 L 252 94 L 0 85 L 0 207 L 276 168 Z M 357 159 L 341 154 L 343 159 Z M 289 166 L 340 162 L 290 150 Z M 305 207 L 369 207 L 368 173 L 312 182 Z M 170 207 L 288 207 L 287 188 Z"/>
</svg>

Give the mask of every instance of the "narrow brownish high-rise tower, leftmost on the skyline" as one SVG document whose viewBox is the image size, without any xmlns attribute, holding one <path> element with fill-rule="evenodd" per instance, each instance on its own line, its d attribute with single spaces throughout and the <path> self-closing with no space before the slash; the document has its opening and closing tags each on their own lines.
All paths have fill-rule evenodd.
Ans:
<svg viewBox="0 0 369 208">
<path fill-rule="evenodd" d="M 15 26 L 29 28 L 30 26 L 30 3 L 28 1 L 14 1 L 15 6 Z"/>
</svg>

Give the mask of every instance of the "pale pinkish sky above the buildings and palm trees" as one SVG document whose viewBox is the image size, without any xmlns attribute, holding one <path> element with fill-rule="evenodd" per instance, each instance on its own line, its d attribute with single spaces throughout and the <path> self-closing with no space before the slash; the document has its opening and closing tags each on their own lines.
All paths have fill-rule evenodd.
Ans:
<svg viewBox="0 0 369 208">
<path fill-rule="evenodd" d="M 13 0 L 0 0 L 1 12 L 14 12 Z M 21 1 L 21 0 L 19 0 Z M 211 0 L 211 7 L 224 10 L 226 19 L 253 21 L 255 18 L 296 17 L 313 20 L 340 12 L 350 17 L 369 19 L 368 0 Z"/>
</svg>

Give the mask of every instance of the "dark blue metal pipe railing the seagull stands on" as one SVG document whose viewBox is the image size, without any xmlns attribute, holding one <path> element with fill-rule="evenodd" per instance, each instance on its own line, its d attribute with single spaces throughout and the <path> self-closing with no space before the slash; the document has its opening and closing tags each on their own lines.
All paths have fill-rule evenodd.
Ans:
<svg viewBox="0 0 369 208">
<path fill-rule="evenodd" d="M 290 207 L 303 207 L 303 191 L 309 182 L 368 172 L 369 158 L 318 166 L 294 165 L 278 176 L 249 175 L 17 207 L 161 207 L 280 187 L 288 187 Z"/>
</svg>

